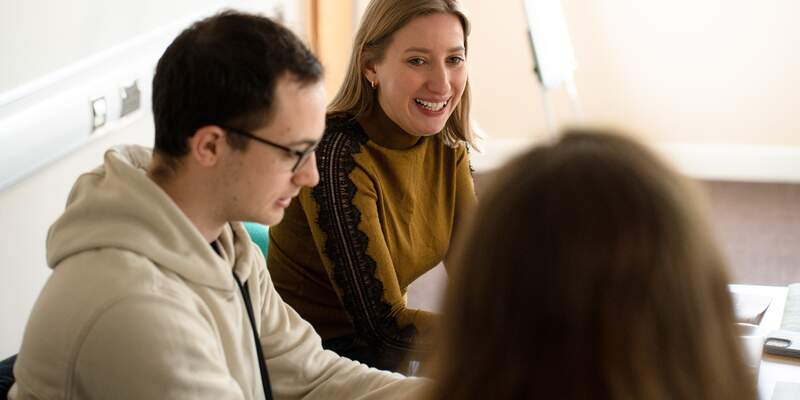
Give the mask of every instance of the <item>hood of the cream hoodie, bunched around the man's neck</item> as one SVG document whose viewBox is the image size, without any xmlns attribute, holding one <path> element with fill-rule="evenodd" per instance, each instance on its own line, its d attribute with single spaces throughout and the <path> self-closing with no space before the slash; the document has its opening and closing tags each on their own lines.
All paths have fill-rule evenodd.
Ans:
<svg viewBox="0 0 800 400">
<path fill-rule="evenodd" d="M 256 256 L 249 236 L 240 223 L 228 224 L 217 254 L 147 176 L 151 154 L 141 146 L 114 147 L 102 166 L 78 178 L 64 214 L 48 232 L 48 265 L 57 268 L 75 254 L 113 248 L 146 257 L 194 283 L 234 290 L 231 269 L 246 281 Z"/>
</svg>

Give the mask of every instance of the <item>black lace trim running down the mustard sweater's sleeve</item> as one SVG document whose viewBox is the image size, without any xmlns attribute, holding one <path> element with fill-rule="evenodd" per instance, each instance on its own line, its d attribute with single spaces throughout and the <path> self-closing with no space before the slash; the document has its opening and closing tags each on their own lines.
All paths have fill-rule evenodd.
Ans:
<svg viewBox="0 0 800 400">
<path fill-rule="evenodd" d="M 356 334 L 384 357 L 412 349 L 417 329 L 400 329 L 387 317 L 391 306 L 383 301 L 383 284 L 375 276 L 377 263 L 367 254 L 369 237 L 358 229 L 361 211 L 353 204 L 356 186 L 350 179 L 353 156 L 369 138 L 349 118 L 331 118 L 317 148 L 319 184 L 311 194 L 319 207 L 317 224 L 325 233 L 325 255 L 333 261 L 333 276 L 342 290 L 342 302 Z"/>
</svg>

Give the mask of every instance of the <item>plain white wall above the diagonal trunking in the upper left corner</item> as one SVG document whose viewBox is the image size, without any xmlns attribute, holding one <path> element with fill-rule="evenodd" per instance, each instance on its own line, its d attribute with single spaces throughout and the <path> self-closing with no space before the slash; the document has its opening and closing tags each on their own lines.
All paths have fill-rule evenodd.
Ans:
<svg viewBox="0 0 800 400">
<path fill-rule="evenodd" d="M 0 63 L 2 93 L 158 30 L 186 16 L 187 10 L 219 8 L 225 1 L 27 0 L 0 4 L 0 49 L 6 60 L 13 60 Z M 42 12 L 45 9 L 47 12 Z"/>
</svg>

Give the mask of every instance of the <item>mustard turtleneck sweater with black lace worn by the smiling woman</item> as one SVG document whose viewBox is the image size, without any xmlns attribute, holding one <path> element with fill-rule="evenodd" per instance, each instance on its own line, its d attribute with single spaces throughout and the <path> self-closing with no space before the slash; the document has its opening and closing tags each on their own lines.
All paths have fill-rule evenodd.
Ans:
<svg viewBox="0 0 800 400">
<path fill-rule="evenodd" d="M 319 184 L 269 231 L 275 287 L 323 340 L 354 336 L 378 358 L 425 352 L 437 317 L 407 308 L 406 288 L 444 259 L 475 206 L 466 147 L 380 120 L 367 131 L 352 118 L 327 122 Z"/>
</svg>

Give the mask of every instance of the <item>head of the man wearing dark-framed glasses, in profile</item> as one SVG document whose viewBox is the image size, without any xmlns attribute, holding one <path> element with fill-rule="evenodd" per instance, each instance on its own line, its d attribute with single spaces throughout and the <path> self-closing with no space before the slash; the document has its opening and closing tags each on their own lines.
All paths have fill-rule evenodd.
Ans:
<svg viewBox="0 0 800 400">
<path fill-rule="evenodd" d="M 279 222 L 318 181 L 321 80 L 317 59 L 268 18 L 228 11 L 193 24 L 153 79 L 152 176 L 187 176 L 214 221 Z"/>
</svg>

